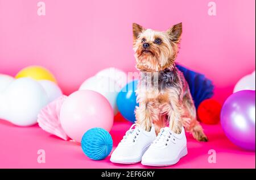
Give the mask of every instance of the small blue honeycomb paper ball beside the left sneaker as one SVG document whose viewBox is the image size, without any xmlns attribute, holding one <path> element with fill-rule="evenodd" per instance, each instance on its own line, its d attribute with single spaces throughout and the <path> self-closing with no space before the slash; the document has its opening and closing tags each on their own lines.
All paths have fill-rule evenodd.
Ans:
<svg viewBox="0 0 256 180">
<path fill-rule="evenodd" d="M 92 160 L 103 160 L 112 148 L 113 140 L 103 128 L 92 128 L 84 133 L 81 140 L 82 151 Z"/>
</svg>

